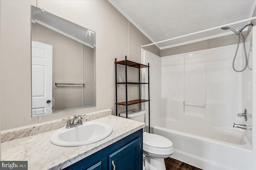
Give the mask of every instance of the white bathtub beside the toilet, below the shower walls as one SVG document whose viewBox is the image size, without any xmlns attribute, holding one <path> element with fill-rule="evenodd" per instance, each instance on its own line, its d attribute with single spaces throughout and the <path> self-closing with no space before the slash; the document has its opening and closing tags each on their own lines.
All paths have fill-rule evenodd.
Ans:
<svg viewBox="0 0 256 170">
<path fill-rule="evenodd" d="M 204 170 L 249 170 L 252 148 L 243 131 L 182 125 L 172 119 L 151 122 L 152 132 L 170 139 L 172 158 Z"/>
</svg>

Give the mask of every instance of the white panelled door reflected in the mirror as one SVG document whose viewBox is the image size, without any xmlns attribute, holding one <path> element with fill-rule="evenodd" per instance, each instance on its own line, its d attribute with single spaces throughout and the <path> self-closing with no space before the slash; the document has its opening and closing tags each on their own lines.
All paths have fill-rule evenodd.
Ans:
<svg viewBox="0 0 256 170">
<path fill-rule="evenodd" d="M 52 113 L 52 45 L 32 41 L 32 115 Z"/>
</svg>

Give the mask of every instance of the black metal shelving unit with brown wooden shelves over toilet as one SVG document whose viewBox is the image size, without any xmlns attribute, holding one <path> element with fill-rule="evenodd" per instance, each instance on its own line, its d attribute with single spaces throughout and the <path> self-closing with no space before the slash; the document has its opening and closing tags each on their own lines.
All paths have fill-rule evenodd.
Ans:
<svg viewBox="0 0 256 170">
<path fill-rule="evenodd" d="M 126 59 L 127 57 L 125 56 L 125 60 L 122 61 L 116 61 L 115 59 L 115 68 L 116 68 L 116 116 L 118 115 L 117 112 L 117 106 L 118 105 L 123 105 L 126 106 L 126 118 L 128 118 L 128 106 L 132 104 L 139 104 L 140 109 L 141 109 L 141 103 L 143 102 L 148 102 L 148 132 L 150 133 L 150 90 L 149 90 L 149 63 L 148 65 L 140 64 L 140 63 L 135 63 L 133 61 L 128 61 Z M 124 65 L 125 66 L 125 82 L 117 82 L 117 64 Z M 127 82 L 127 66 L 138 68 L 139 70 L 139 82 Z M 148 68 L 148 83 L 141 83 L 140 82 L 140 69 L 141 68 Z M 125 94 L 126 94 L 126 101 L 125 102 L 117 102 L 117 86 L 118 84 L 125 84 Z M 130 100 L 128 101 L 127 99 L 127 84 L 138 84 L 139 85 L 139 96 L 140 96 L 140 85 L 141 84 L 148 84 L 148 99 L 141 99 L 141 96 L 137 100 Z"/>
</svg>

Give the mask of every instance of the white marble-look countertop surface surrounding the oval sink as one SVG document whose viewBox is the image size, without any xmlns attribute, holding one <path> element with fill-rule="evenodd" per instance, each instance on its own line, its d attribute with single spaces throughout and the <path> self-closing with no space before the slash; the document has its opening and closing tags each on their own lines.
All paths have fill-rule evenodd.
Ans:
<svg viewBox="0 0 256 170">
<path fill-rule="evenodd" d="M 61 170 L 145 127 L 145 123 L 108 115 L 92 121 L 108 123 L 113 132 L 107 138 L 80 147 L 60 147 L 50 143 L 48 131 L 1 144 L 2 160 L 28 161 L 29 170 Z"/>
</svg>

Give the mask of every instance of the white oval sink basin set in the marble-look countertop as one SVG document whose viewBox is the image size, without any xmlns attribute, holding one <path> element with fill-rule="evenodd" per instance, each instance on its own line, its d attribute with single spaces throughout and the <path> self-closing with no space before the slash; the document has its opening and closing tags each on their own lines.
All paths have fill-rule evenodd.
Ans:
<svg viewBox="0 0 256 170">
<path fill-rule="evenodd" d="M 50 142 L 61 147 L 77 147 L 98 142 L 111 133 L 112 127 L 107 123 L 85 122 L 78 127 L 57 130 L 52 134 Z"/>
</svg>

